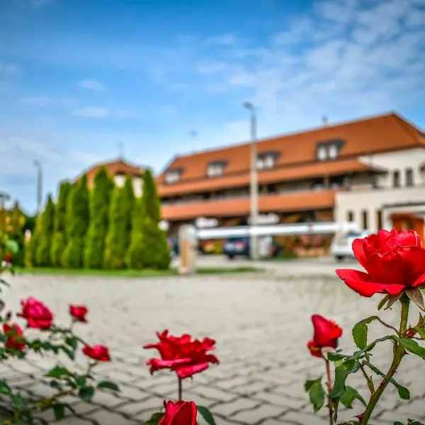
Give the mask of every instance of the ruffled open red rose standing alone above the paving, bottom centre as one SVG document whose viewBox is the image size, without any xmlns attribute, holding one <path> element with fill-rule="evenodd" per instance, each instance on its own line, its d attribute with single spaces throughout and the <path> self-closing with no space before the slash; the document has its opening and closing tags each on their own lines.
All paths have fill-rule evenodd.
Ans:
<svg viewBox="0 0 425 425">
<path fill-rule="evenodd" d="M 191 335 L 173 336 L 168 330 L 159 334 L 157 344 L 147 344 L 143 348 L 157 348 L 161 358 L 151 358 L 147 361 L 150 373 L 159 369 L 171 369 L 180 379 L 188 378 L 209 367 L 209 363 L 218 363 L 217 357 L 207 353 L 215 349 L 214 339 L 204 338 L 192 340 Z"/>
</svg>

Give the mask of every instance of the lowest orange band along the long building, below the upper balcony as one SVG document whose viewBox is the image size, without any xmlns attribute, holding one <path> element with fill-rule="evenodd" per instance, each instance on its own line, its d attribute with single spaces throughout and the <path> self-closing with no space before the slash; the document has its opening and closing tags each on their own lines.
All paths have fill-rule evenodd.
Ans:
<svg viewBox="0 0 425 425">
<path fill-rule="evenodd" d="M 259 212 L 289 212 L 332 208 L 335 192 L 334 190 L 327 190 L 260 196 Z M 232 217 L 234 215 L 249 215 L 249 198 L 162 205 L 163 220 L 192 220 L 196 217 Z"/>
</svg>

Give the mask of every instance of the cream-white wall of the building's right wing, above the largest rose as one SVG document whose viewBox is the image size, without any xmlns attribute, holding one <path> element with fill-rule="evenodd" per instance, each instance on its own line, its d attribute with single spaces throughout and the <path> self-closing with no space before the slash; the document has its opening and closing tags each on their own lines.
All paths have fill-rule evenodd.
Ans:
<svg viewBox="0 0 425 425">
<path fill-rule="evenodd" d="M 337 222 L 347 220 L 348 211 L 353 212 L 353 221 L 362 227 L 362 211 L 368 214 L 368 230 L 378 230 L 377 212 L 383 205 L 394 203 L 425 203 L 425 183 L 414 187 L 342 191 L 336 193 L 334 218 Z M 424 210 L 424 208 L 422 208 Z M 412 210 L 413 212 L 413 210 Z M 391 228 L 390 215 L 382 211 L 382 226 Z"/>
</svg>

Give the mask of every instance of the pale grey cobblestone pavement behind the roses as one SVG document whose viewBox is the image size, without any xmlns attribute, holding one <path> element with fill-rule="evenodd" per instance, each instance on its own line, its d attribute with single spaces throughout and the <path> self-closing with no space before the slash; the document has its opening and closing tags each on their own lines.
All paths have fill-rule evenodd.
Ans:
<svg viewBox="0 0 425 425">
<path fill-rule="evenodd" d="M 326 412 L 314 415 L 303 390 L 305 379 L 316 378 L 324 368 L 305 347 L 312 337 L 310 315 L 323 314 L 344 327 L 340 346 L 348 351 L 353 349 L 351 327 L 374 314 L 378 303 L 352 293 L 336 278 L 285 278 L 271 272 L 145 279 L 16 276 L 9 281 L 12 289 L 5 297 L 13 310 L 22 297 L 34 295 L 57 312 L 57 322 L 67 323 L 69 302 L 88 305 L 89 324 L 77 331 L 94 344 L 111 348 L 113 362 L 96 368 L 96 376 L 118 382 L 120 395 L 99 392 L 91 404 L 69 397 L 67 402 L 77 416 L 64 424 L 142 424 L 164 398 L 175 398 L 174 375 L 150 376 L 145 361 L 156 352 L 142 349 L 156 341 L 155 331 L 166 328 L 175 334 L 187 331 L 217 340 L 220 365 L 183 384 L 183 398 L 209 407 L 217 425 L 327 424 Z M 391 321 L 396 314 L 383 315 Z M 370 334 L 383 335 L 385 330 L 373 325 Z M 382 343 L 380 349 L 389 353 L 391 346 Z M 385 368 L 379 355 L 374 363 Z M 1 365 L 1 375 L 16 387 L 44 395 L 50 388 L 40 383 L 40 377 L 50 366 L 51 359 L 31 357 Z M 407 356 L 397 380 L 409 387 L 412 399 L 397 398 L 391 388 L 378 405 L 373 424 L 425 419 L 423 370 L 419 359 Z M 363 381 L 350 379 L 366 397 Z M 356 404 L 355 409 L 343 411 L 340 419 L 359 413 L 361 406 Z M 52 421 L 52 414 L 44 419 Z"/>
</svg>

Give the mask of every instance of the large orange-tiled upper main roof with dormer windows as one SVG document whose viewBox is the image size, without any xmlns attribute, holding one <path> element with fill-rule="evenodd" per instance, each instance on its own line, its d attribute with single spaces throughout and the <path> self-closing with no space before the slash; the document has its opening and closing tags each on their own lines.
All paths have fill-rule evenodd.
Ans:
<svg viewBox="0 0 425 425">
<path fill-rule="evenodd" d="M 275 164 L 276 169 L 297 164 L 301 166 L 309 162 L 310 166 L 312 166 L 316 163 L 317 142 L 335 139 L 341 139 L 345 142 L 341 152 L 339 152 L 339 158 L 341 159 L 395 149 L 407 149 L 416 146 L 425 147 L 425 137 L 420 130 L 400 118 L 399 115 L 390 113 L 350 123 L 328 125 L 305 132 L 260 140 L 258 152 L 259 154 L 271 151 L 280 152 Z M 208 190 L 207 186 L 209 184 L 214 185 L 214 183 L 209 182 L 210 179 L 205 177 L 210 162 L 227 162 L 222 178 L 216 179 L 225 183 L 225 177 L 227 176 L 248 173 L 249 157 L 249 143 L 176 157 L 159 176 L 157 183 L 159 183 L 160 191 L 162 191 L 162 186 L 171 186 L 171 184 L 166 185 L 165 183 L 166 171 L 182 169 L 183 173 L 180 181 L 172 185 L 176 190 L 180 188 L 179 193 L 188 193 L 186 183 L 189 181 L 202 181 L 206 185 L 206 190 Z M 328 165 L 331 162 L 327 161 L 323 164 Z M 295 168 L 293 171 L 295 172 Z M 292 178 L 292 176 L 288 175 L 288 179 Z"/>
</svg>

